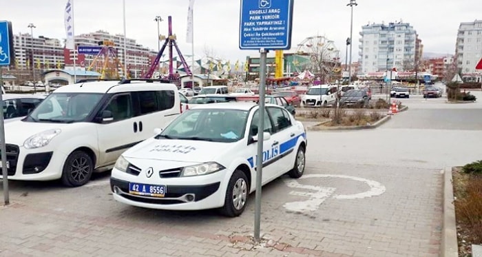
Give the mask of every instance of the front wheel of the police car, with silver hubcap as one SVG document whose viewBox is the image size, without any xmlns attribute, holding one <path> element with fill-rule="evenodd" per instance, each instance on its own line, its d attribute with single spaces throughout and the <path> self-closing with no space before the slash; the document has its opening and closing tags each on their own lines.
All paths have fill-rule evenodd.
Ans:
<svg viewBox="0 0 482 257">
<path fill-rule="evenodd" d="M 220 209 L 224 216 L 240 216 L 246 207 L 249 196 L 248 178 L 244 172 L 236 169 L 229 178 L 224 196 L 224 206 Z"/>
</svg>

